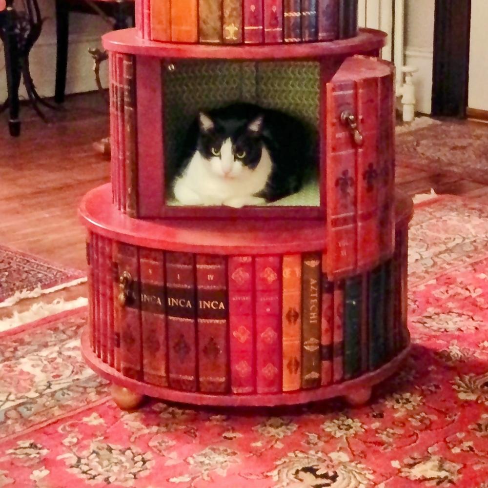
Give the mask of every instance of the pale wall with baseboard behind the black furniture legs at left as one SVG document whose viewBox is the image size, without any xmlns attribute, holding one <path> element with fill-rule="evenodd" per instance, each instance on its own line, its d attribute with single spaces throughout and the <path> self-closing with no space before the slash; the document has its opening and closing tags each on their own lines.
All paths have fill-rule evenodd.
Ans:
<svg viewBox="0 0 488 488">
<path fill-rule="evenodd" d="M 39 0 L 42 17 L 46 18 L 42 34 L 31 52 L 31 72 L 37 90 L 42 96 L 54 95 L 56 72 L 56 18 L 53 0 Z M 70 42 L 66 93 L 96 89 L 93 62 L 88 48 L 102 47 L 100 37 L 110 26 L 94 15 L 70 14 Z M 1 43 L 0 43 L 1 45 Z M 0 102 L 6 97 L 3 47 L 0 48 Z M 103 63 L 102 79 L 108 81 L 106 62 Z M 22 86 L 20 92 L 26 97 Z"/>
</svg>

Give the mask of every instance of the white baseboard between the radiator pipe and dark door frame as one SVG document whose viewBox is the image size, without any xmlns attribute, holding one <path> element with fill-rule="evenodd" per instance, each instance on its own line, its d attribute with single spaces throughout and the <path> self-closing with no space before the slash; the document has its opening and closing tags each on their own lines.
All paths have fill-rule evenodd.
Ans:
<svg viewBox="0 0 488 488">
<path fill-rule="evenodd" d="M 415 84 L 415 97 L 417 103 L 415 110 L 430 114 L 432 112 L 432 71 L 434 52 L 431 49 L 408 47 L 405 50 L 405 62 L 418 68 L 413 75 Z"/>
</svg>

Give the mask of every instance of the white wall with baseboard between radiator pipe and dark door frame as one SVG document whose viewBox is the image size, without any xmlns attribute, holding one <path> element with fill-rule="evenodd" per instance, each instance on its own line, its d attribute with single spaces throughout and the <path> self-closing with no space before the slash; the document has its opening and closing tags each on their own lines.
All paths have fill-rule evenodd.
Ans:
<svg viewBox="0 0 488 488">
<path fill-rule="evenodd" d="M 414 75 L 417 97 L 415 108 L 419 112 L 430 114 L 434 56 L 434 0 L 406 0 L 405 8 L 405 62 L 419 69 Z"/>
</svg>

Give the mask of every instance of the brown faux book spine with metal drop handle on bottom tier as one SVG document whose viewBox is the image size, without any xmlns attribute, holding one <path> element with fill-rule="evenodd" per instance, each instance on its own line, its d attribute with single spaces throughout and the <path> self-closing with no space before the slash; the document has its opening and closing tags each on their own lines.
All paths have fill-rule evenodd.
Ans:
<svg viewBox="0 0 488 488">
<path fill-rule="evenodd" d="M 139 249 L 117 244 L 116 261 L 119 271 L 118 307 L 120 362 L 124 376 L 142 381 L 141 289 Z"/>
</svg>

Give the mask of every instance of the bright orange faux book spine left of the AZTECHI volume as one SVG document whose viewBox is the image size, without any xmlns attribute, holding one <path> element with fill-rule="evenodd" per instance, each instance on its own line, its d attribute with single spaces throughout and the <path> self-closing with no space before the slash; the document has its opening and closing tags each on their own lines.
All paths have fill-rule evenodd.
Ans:
<svg viewBox="0 0 488 488">
<path fill-rule="evenodd" d="M 283 256 L 283 391 L 302 386 L 302 256 Z"/>
</svg>

